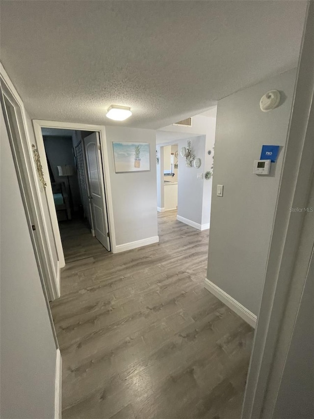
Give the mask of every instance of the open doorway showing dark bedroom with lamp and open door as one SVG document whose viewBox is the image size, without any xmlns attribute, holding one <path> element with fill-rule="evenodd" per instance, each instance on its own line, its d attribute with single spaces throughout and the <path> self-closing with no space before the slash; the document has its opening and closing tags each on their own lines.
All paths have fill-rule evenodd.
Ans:
<svg viewBox="0 0 314 419">
<path fill-rule="evenodd" d="M 110 251 L 99 135 L 42 128 L 65 262 Z"/>
</svg>

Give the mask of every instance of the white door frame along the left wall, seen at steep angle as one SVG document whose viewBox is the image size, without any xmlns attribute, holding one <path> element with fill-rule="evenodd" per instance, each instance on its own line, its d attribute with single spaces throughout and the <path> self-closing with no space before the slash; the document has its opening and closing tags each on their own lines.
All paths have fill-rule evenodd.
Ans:
<svg viewBox="0 0 314 419">
<path fill-rule="evenodd" d="M 53 262 L 51 259 L 51 248 L 47 240 L 46 224 L 44 220 L 43 202 L 39 192 L 40 185 L 34 159 L 30 148 L 29 131 L 27 126 L 26 112 L 24 103 L 17 90 L 12 84 L 5 69 L 0 63 L 0 101 L 1 108 L 6 124 L 10 147 L 12 151 L 14 166 L 17 174 L 23 206 L 25 209 L 26 220 L 29 229 L 29 235 L 32 242 L 34 255 L 38 267 L 39 278 L 42 285 L 44 299 L 48 311 L 49 320 L 52 327 L 52 335 L 56 349 L 59 348 L 52 313 L 49 301 L 60 296 L 56 280 L 53 277 Z M 13 139 L 11 129 L 8 123 L 8 115 L 4 105 L 4 96 L 14 108 L 15 116 L 18 122 L 19 138 Z M 17 112 L 17 109 L 19 112 Z M 32 226 L 35 226 L 33 230 Z M 36 236 L 36 237 L 35 237 Z M 59 269 L 59 261 L 58 267 Z"/>
</svg>

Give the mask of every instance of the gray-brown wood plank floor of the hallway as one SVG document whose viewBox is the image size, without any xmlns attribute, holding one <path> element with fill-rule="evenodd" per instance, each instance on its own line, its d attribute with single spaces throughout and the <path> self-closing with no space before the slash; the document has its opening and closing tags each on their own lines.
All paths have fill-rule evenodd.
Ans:
<svg viewBox="0 0 314 419">
<path fill-rule="evenodd" d="M 111 254 L 61 227 L 51 304 L 63 419 L 239 419 L 253 329 L 204 288 L 208 231 L 158 214 L 160 242 Z"/>
</svg>

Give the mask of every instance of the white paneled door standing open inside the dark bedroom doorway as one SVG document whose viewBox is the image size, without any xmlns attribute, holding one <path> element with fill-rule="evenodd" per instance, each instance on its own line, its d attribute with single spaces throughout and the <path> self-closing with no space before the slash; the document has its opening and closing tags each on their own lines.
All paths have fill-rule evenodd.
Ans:
<svg viewBox="0 0 314 419">
<path fill-rule="evenodd" d="M 108 218 L 105 203 L 103 166 L 99 133 L 84 138 L 88 182 L 96 238 L 110 251 Z"/>
</svg>

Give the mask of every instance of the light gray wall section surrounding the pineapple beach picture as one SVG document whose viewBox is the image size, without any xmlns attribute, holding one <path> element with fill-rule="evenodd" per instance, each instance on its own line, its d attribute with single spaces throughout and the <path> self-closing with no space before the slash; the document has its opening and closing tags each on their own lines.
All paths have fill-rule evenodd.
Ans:
<svg viewBox="0 0 314 419">
<path fill-rule="evenodd" d="M 135 242 L 157 233 L 156 132 L 108 126 L 105 128 L 116 244 Z M 113 141 L 150 143 L 150 171 L 115 173 Z"/>
</svg>

